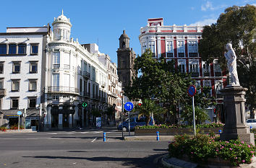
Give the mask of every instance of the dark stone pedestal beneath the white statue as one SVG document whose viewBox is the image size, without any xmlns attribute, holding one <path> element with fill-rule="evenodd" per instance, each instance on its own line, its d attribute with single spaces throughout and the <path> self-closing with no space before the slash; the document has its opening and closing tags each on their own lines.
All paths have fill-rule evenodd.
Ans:
<svg viewBox="0 0 256 168">
<path fill-rule="evenodd" d="M 221 89 L 226 120 L 221 134 L 222 141 L 239 139 L 255 145 L 254 134 L 249 132 L 249 127 L 245 124 L 244 94 L 246 91 L 247 89 L 241 86 L 228 86 Z"/>
</svg>

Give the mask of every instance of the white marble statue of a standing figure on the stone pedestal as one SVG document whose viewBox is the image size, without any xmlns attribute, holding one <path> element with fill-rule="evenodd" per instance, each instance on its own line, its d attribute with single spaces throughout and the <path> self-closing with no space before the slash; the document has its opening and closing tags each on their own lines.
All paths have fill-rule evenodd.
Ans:
<svg viewBox="0 0 256 168">
<path fill-rule="evenodd" d="M 228 61 L 229 73 L 231 74 L 230 85 L 240 85 L 238 75 L 236 71 L 236 53 L 234 52 L 231 43 L 226 44 L 227 53 L 224 53 L 226 60 Z"/>
</svg>

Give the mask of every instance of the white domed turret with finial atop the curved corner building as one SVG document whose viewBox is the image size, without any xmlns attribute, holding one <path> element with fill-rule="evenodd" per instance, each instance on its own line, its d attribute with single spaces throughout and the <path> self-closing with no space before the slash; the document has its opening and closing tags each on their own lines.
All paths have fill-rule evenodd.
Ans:
<svg viewBox="0 0 256 168">
<path fill-rule="evenodd" d="M 53 29 L 54 29 L 54 40 L 69 40 L 70 37 L 70 30 L 72 27 L 71 22 L 67 19 L 66 16 L 63 14 L 63 9 L 61 15 L 55 19 L 53 22 Z"/>
</svg>

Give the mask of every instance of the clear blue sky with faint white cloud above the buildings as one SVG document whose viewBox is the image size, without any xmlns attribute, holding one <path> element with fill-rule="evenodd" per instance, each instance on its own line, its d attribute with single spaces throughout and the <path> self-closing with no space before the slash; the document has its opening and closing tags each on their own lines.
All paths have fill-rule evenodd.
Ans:
<svg viewBox="0 0 256 168">
<path fill-rule="evenodd" d="M 51 25 L 63 9 L 72 23 L 71 37 L 80 44 L 98 44 L 99 51 L 116 63 L 123 30 L 130 38 L 130 48 L 141 55 L 138 36 L 149 18 L 163 17 L 163 25 L 210 25 L 227 7 L 246 4 L 256 6 L 256 0 L 1 1 L 0 32 L 6 32 L 6 27 Z"/>
</svg>

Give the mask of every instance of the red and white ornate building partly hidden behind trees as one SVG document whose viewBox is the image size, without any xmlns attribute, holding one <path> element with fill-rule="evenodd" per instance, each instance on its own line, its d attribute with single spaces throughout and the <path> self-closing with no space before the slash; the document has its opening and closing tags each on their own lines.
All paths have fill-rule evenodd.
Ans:
<svg viewBox="0 0 256 168">
<path fill-rule="evenodd" d="M 192 73 L 197 86 L 211 87 L 210 94 L 221 102 L 219 90 L 226 87 L 226 72 L 221 71 L 216 60 L 210 64 L 202 61 L 198 53 L 202 29 L 202 26 L 166 26 L 163 18 L 148 19 L 148 25 L 140 28 L 141 51 L 150 48 L 154 58 L 163 56 L 166 61 L 174 60 L 176 68 Z M 210 117 L 212 111 L 209 109 Z"/>
</svg>

